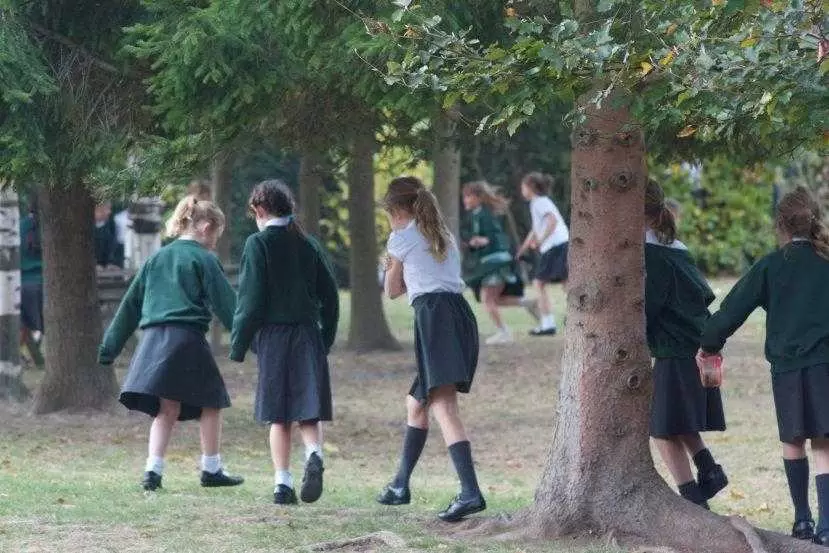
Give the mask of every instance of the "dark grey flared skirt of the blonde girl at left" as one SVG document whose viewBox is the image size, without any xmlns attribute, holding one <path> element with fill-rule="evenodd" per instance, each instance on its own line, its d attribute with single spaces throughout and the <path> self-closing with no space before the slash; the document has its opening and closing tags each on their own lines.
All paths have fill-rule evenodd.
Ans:
<svg viewBox="0 0 829 553">
<path fill-rule="evenodd" d="M 144 329 L 119 401 L 155 417 L 159 398 L 181 403 L 180 421 L 201 418 L 203 407 L 230 407 L 219 367 L 200 330 L 184 325 Z"/>
</svg>

